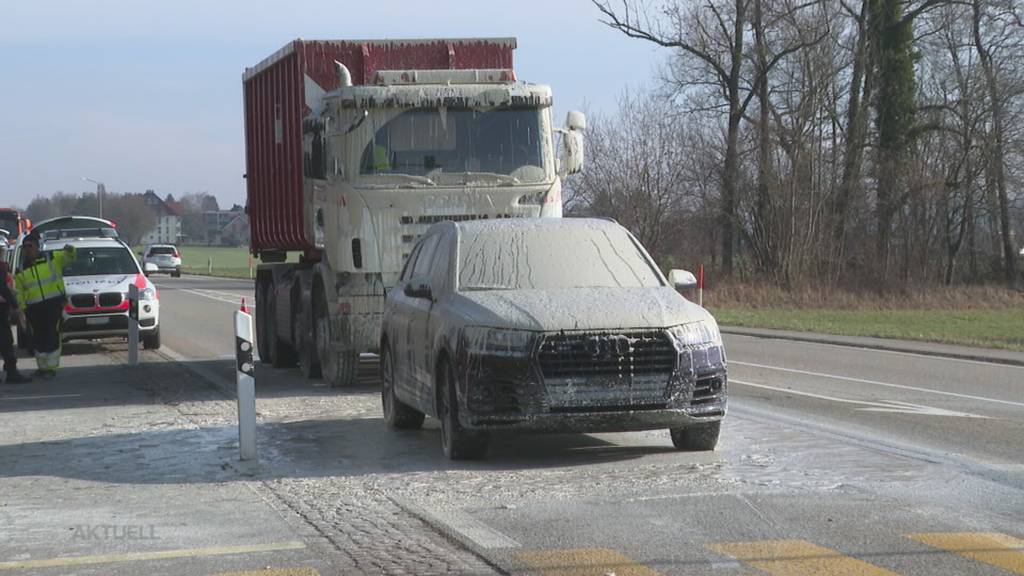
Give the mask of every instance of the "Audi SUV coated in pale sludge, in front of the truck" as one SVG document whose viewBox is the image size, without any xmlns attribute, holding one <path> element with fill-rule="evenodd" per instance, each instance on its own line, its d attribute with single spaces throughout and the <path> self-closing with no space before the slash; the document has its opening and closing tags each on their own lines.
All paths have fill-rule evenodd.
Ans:
<svg viewBox="0 0 1024 576">
<path fill-rule="evenodd" d="M 435 224 L 384 306 L 385 420 L 440 419 L 450 458 L 483 456 L 496 429 L 668 428 L 678 449 L 713 450 L 725 352 L 677 291 L 694 283 L 608 220 Z"/>
</svg>

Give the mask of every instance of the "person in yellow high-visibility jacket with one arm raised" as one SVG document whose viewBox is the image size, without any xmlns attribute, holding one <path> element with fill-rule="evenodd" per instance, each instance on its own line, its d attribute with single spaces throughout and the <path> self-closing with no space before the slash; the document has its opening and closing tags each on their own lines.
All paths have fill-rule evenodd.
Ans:
<svg viewBox="0 0 1024 576">
<path fill-rule="evenodd" d="M 39 376 L 52 378 L 60 366 L 60 322 L 67 290 L 63 269 L 78 252 L 66 245 L 61 251 L 39 253 L 39 237 L 29 235 L 22 241 L 25 260 L 14 277 L 18 305 L 32 331 Z"/>
</svg>

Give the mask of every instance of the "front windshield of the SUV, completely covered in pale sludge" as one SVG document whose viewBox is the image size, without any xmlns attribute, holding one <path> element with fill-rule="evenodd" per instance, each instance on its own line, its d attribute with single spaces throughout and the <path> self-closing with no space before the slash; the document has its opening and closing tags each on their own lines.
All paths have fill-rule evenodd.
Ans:
<svg viewBox="0 0 1024 576">
<path fill-rule="evenodd" d="M 624 230 L 495 224 L 464 230 L 459 242 L 464 291 L 662 286 Z"/>
</svg>

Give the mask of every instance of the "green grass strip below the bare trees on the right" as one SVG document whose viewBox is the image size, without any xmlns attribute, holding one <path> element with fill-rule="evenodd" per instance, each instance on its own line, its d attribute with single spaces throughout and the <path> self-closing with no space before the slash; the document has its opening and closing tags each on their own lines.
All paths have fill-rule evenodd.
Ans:
<svg viewBox="0 0 1024 576">
<path fill-rule="evenodd" d="M 876 336 L 1024 352 L 1024 308 L 816 310 L 710 306 L 725 326 Z"/>
</svg>

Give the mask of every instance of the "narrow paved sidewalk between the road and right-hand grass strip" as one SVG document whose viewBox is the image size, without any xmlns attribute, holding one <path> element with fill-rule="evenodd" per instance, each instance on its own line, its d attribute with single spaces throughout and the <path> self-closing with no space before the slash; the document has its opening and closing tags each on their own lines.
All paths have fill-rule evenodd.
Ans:
<svg viewBox="0 0 1024 576">
<path fill-rule="evenodd" d="M 721 330 L 723 334 L 755 336 L 758 338 L 778 338 L 802 342 L 817 342 L 841 346 L 921 354 L 925 356 L 941 356 L 944 358 L 956 358 L 961 360 L 974 360 L 978 362 L 993 362 L 996 364 L 1024 366 L 1024 353 L 1013 351 L 975 348 L 952 344 L 939 344 L 913 340 L 896 340 L 890 338 L 872 338 L 867 336 L 839 336 L 836 334 L 796 332 L 792 330 L 774 330 L 770 328 L 722 326 Z"/>
</svg>

